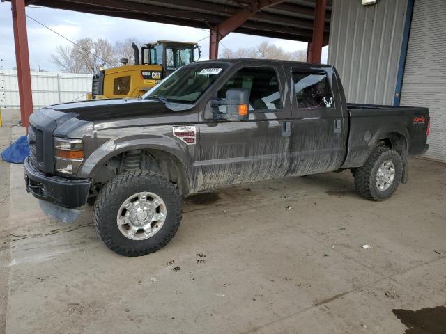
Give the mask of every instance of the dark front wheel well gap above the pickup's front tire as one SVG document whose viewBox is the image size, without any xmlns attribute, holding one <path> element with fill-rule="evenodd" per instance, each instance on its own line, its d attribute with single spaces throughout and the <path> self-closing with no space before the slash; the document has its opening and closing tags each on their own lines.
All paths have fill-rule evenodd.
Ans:
<svg viewBox="0 0 446 334">
<path fill-rule="evenodd" d="M 125 170 L 149 170 L 178 186 L 180 194 L 187 193 L 187 176 L 177 157 L 169 152 L 154 149 L 128 150 L 107 160 L 95 173 L 90 196 L 94 197 L 107 182 Z"/>
</svg>

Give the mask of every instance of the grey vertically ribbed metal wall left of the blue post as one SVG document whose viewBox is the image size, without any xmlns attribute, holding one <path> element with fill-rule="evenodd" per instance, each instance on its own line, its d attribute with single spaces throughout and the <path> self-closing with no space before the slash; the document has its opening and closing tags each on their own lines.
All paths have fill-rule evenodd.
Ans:
<svg viewBox="0 0 446 334">
<path fill-rule="evenodd" d="M 333 0 L 328 63 L 347 102 L 393 104 L 407 0 Z"/>
</svg>

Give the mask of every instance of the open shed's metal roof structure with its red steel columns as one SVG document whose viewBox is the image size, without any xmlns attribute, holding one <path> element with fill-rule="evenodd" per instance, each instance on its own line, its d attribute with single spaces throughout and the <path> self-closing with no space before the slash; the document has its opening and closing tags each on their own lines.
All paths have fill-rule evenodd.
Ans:
<svg viewBox="0 0 446 334">
<path fill-rule="evenodd" d="M 6 0 L 1 0 L 6 1 Z M 7 0 L 11 2 L 22 125 L 33 111 L 25 8 L 82 13 L 209 29 L 209 58 L 229 33 L 308 42 L 307 61 L 321 62 L 328 45 L 332 0 Z"/>
</svg>

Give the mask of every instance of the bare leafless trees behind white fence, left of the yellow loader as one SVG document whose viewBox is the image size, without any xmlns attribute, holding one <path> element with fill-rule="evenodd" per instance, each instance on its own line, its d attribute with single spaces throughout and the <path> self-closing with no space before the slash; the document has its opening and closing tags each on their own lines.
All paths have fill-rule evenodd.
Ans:
<svg viewBox="0 0 446 334">
<path fill-rule="evenodd" d="M 82 38 L 72 47 L 59 46 L 52 61 L 63 71 L 70 73 L 95 73 L 100 67 L 114 67 L 118 59 L 108 40 Z"/>
</svg>

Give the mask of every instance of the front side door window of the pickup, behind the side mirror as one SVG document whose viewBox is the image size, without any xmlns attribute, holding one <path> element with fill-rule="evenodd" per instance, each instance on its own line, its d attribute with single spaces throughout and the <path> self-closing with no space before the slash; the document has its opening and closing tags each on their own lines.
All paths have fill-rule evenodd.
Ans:
<svg viewBox="0 0 446 334">
<path fill-rule="evenodd" d="M 226 91 L 231 88 L 249 90 L 249 111 L 282 109 L 279 79 L 272 67 L 245 67 L 238 70 L 218 91 L 217 97 L 224 99 Z"/>
</svg>

